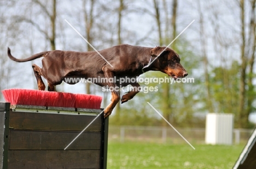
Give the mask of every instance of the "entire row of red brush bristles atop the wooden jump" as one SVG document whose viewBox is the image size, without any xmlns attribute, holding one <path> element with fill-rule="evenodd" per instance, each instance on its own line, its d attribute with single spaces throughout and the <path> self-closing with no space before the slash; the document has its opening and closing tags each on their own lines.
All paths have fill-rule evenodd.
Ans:
<svg viewBox="0 0 256 169">
<path fill-rule="evenodd" d="M 47 92 L 31 89 L 2 90 L 4 99 L 11 105 L 94 108 L 101 107 L 102 97 L 89 94 Z"/>
</svg>

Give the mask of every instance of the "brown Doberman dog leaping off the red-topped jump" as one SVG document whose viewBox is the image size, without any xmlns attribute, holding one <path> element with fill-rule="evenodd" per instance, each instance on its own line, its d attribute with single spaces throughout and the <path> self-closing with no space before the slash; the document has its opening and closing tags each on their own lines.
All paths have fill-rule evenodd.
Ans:
<svg viewBox="0 0 256 169">
<path fill-rule="evenodd" d="M 48 82 L 48 90 L 55 91 L 55 86 L 60 85 L 66 78 L 107 78 L 116 81 L 96 82 L 102 87 L 124 87 L 131 85 L 137 90 L 126 93 L 121 98 L 121 103 L 133 98 L 139 92 L 137 82 L 119 82 L 121 77 L 136 78 L 146 71 L 161 71 L 174 79 L 188 75 L 182 67 L 179 55 L 170 48 L 164 51 L 165 47 L 142 47 L 132 45 L 117 45 L 97 52 L 74 52 L 74 51 L 46 51 L 32 55 L 26 59 L 17 59 L 10 53 L 8 56 L 16 62 L 27 62 L 44 57 L 42 59 L 42 69 L 36 64 L 32 65 L 34 75 L 37 79 L 38 89 L 44 90 L 43 76 Z M 161 55 L 158 57 L 158 55 Z M 102 58 L 102 56 L 104 58 Z M 106 59 L 106 60 L 105 60 Z M 154 62 L 152 62 L 152 59 Z M 108 61 L 108 64 L 106 61 Z M 66 81 L 65 81 L 66 82 Z M 77 82 L 66 82 L 74 84 Z M 115 105 L 120 100 L 119 90 L 112 91 L 110 104 L 104 109 L 104 117 L 108 117 Z"/>
</svg>

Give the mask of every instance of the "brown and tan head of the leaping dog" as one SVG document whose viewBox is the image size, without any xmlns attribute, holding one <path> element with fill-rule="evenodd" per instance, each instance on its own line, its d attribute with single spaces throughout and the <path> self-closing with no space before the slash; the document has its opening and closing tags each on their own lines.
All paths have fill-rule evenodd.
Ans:
<svg viewBox="0 0 256 169">
<path fill-rule="evenodd" d="M 161 55 L 159 56 L 159 54 Z M 153 63 L 154 69 L 159 70 L 162 73 L 166 73 L 168 76 L 173 77 L 174 79 L 182 78 L 188 76 L 187 71 L 182 67 L 179 58 L 179 55 L 172 49 L 165 47 L 156 46 L 151 50 L 151 56 L 153 59 L 158 57 Z"/>
</svg>

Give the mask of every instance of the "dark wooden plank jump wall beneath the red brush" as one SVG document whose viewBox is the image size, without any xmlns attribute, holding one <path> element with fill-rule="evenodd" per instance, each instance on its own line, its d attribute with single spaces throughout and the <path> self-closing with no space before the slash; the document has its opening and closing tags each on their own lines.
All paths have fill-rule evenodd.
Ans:
<svg viewBox="0 0 256 169">
<path fill-rule="evenodd" d="M 102 110 L 11 106 L 0 102 L 0 168 L 107 167 L 108 118 Z"/>
</svg>

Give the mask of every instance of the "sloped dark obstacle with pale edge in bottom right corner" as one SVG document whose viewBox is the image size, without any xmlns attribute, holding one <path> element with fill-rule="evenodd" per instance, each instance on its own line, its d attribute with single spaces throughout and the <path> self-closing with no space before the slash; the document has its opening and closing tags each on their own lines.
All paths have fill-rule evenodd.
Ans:
<svg viewBox="0 0 256 169">
<path fill-rule="evenodd" d="M 255 169 L 256 168 L 256 128 L 243 148 L 233 169 Z"/>
</svg>

